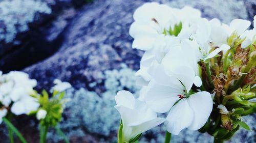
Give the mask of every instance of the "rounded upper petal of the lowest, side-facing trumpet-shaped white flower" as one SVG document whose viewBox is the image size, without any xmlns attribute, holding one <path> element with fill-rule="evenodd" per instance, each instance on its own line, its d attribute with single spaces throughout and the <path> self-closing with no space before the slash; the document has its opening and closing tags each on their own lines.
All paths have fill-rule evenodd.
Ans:
<svg viewBox="0 0 256 143">
<path fill-rule="evenodd" d="M 124 106 L 133 109 L 135 106 L 135 98 L 129 91 L 119 91 L 115 96 L 117 106 Z"/>
</svg>

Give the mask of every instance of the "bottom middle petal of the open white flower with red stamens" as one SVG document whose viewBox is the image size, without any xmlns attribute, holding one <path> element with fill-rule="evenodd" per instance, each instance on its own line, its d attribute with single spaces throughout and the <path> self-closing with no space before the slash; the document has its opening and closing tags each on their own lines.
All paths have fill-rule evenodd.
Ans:
<svg viewBox="0 0 256 143">
<path fill-rule="evenodd" d="M 182 129 L 191 125 L 193 117 L 194 113 L 189 107 L 187 99 L 181 99 L 168 113 L 166 118 L 167 131 L 178 135 Z"/>
</svg>

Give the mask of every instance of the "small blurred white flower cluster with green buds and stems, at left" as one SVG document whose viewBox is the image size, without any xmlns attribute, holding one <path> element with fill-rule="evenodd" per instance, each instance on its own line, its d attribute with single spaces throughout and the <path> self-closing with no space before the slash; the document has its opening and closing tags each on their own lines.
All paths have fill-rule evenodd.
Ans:
<svg viewBox="0 0 256 143">
<path fill-rule="evenodd" d="M 49 98 L 45 90 L 42 91 L 42 95 L 33 90 L 37 81 L 30 79 L 27 73 L 20 71 L 0 73 L 0 124 L 4 121 L 8 126 L 11 142 L 13 142 L 13 132 L 20 141 L 27 142 L 10 122 L 14 115 L 22 114 L 35 115 L 40 121 L 41 143 L 46 142 L 49 127 L 55 127 L 66 142 L 69 142 L 62 131 L 57 128 L 57 123 L 61 121 L 63 108 L 67 102 L 67 99 L 62 98 L 65 96 L 65 91 L 71 88 L 71 84 L 61 82 L 59 79 L 55 79 L 54 83 L 51 89 L 52 98 Z"/>
</svg>

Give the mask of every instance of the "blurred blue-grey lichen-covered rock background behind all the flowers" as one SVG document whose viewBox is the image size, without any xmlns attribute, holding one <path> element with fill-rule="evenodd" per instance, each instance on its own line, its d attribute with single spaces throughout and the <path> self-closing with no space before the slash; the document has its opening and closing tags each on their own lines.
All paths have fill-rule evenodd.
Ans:
<svg viewBox="0 0 256 143">
<path fill-rule="evenodd" d="M 2 0 L 0 1 L 0 70 L 22 70 L 38 81 L 37 90 L 52 86 L 55 78 L 68 81 L 63 121 L 59 125 L 71 142 L 116 142 L 119 114 L 113 108 L 118 90 L 138 95 L 135 71 L 142 51 L 132 49 L 129 27 L 133 13 L 146 0 Z M 229 23 L 250 21 L 254 0 L 156 0 L 172 7 L 185 5 L 203 17 Z M 22 119 L 22 120 L 20 120 Z M 244 119 L 252 131 L 240 131 L 228 142 L 256 142 L 256 116 Z M 20 116 L 15 126 L 29 142 L 38 142 L 35 119 Z M 0 142 L 9 142 L 5 125 Z M 159 134 L 161 132 L 162 134 Z M 162 126 L 147 131 L 140 142 L 163 142 Z M 48 142 L 63 142 L 54 130 Z M 209 135 L 184 130 L 172 142 L 212 142 Z M 17 141 L 18 142 L 18 141 Z"/>
</svg>

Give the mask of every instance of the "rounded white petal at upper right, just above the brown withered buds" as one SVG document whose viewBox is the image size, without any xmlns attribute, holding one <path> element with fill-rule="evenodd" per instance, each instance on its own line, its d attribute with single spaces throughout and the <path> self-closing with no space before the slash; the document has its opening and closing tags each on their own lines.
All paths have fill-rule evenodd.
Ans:
<svg viewBox="0 0 256 143">
<path fill-rule="evenodd" d="M 237 31 L 238 35 L 241 35 L 251 25 L 251 22 L 244 19 L 234 19 L 229 25 L 232 30 Z"/>
</svg>

